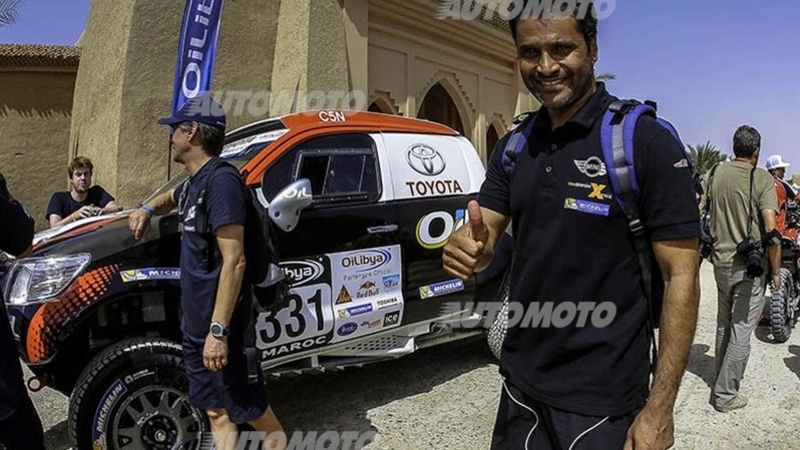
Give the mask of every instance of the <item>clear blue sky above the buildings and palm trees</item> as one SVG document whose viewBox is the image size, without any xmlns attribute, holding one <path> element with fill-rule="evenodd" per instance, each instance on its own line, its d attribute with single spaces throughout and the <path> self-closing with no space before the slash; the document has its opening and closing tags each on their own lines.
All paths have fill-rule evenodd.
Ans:
<svg viewBox="0 0 800 450">
<path fill-rule="evenodd" d="M 170 0 L 177 1 L 177 0 Z M 90 0 L 25 0 L 3 43 L 71 45 Z M 800 7 L 797 0 L 617 0 L 600 22 L 598 72 L 620 97 L 650 98 L 687 144 L 732 153 L 733 132 L 756 127 L 766 156 L 800 173 Z"/>
</svg>

